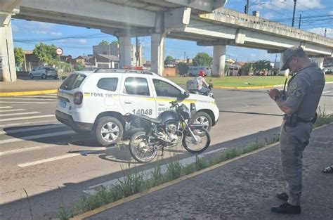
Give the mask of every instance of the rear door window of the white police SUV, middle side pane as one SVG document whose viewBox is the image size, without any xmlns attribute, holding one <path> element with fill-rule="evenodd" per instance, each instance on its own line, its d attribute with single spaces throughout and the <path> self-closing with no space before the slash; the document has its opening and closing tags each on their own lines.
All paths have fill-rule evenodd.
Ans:
<svg viewBox="0 0 333 220">
<path fill-rule="evenodd" d="M 126 78 L 124 93 L 131 95 L 150 96 L 147 79 L 141 77 Z"/>
</svg>

